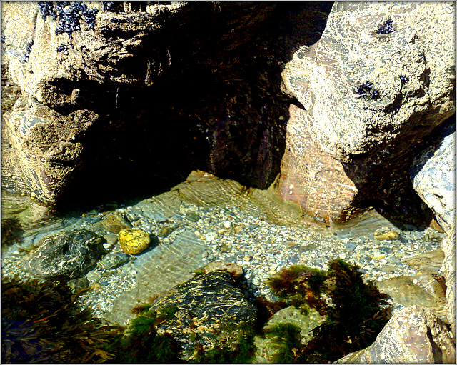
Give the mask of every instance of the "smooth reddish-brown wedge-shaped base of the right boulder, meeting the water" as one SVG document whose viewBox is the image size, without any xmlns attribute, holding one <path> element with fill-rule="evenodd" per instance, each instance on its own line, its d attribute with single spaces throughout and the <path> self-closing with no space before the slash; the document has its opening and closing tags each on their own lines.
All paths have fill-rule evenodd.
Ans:
<svg viewBox="0 0 457 365">
<path fill-rule="evenodd" d="M 358 189 L 346 176 L 340 161 L 327 154 L 311 138 L 303 124 L 306 111 L 291 104 L 286 150 L 275 191 L 283 200 L 301 207 L 304 216 L 318 221 L 346 221 L 360 209 Z"/>
</svg>

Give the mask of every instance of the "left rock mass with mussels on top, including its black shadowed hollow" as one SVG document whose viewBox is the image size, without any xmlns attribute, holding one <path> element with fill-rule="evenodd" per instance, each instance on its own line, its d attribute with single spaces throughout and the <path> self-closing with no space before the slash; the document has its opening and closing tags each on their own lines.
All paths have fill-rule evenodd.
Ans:
<svg viewBox="0 0 457 365">
<path fill-rule="evenodd" d="M 124 5 L 2 3 L 4 186 L 62 206 L 164 191 L 196 168 L 266 188 L 291 100 L 281 61 L 316 34 L 284 46 L 290 11 L 318 6 Z"/>
</svg>

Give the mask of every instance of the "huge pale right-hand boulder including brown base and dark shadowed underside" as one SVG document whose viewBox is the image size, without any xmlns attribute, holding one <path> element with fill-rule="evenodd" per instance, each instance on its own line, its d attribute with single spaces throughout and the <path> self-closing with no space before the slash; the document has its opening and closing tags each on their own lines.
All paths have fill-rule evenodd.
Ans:
<svg viewBox="0 0 457 365">
<path fill-rule="evenodd" d="M 333 5 L 321 39 L 298 49 L 283 71 L 284 90 L 301 104 L 291 106 L 297 121 L 289 121 L 286 136 L 283 199 L 328 220 L 369 205 L 409 223 L 431 219 L 408 169 L 431 131 L 455 112 L 454 11 L 451 2 Z M 389 20 L 394 31 L 383 31 Z M 318 170 L 312 163 L 322 152 L 309 154 L 313 144 L 328 154 Z M 292 181 L 297 173 L 302 177 Z M 316 184 L 322 177 L 325 189 Z M 314 184 L 307 201 L 300 193 Z M 328 204 L 328 189 L 341 191 L 332 196 L 337 204 Z"/>
</svg>

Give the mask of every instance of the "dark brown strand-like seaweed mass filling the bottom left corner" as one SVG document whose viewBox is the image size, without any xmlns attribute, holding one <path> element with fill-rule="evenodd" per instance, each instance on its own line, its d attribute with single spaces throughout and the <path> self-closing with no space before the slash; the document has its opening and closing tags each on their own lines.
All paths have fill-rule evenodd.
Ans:
<svg viewBox="0 0 457 365">
<path fill-rule="evenodd" d="M 2 279 L 1 361 L 105 362 L 116 357 L 123 328 L 81 310 L 68 286 Z"/>
</svg>

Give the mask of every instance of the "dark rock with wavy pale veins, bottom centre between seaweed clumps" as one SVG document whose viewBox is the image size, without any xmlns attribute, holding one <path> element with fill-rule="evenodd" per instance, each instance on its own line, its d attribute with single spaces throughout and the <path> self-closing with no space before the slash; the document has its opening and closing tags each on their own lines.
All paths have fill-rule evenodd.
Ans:
<svg viewBox="0 0 457 365">
<path fill-rule="evenodd" d="M 256 307 L 236 287 L 227 271 L 212 271 L 179 284 L 169 294 L 153 302 L 151 309 L 177 306 L 175 319 L 166 321 L 159 333 L 169 333 L 179 341 L 183 359 L 192 359 L 197 344 L 203 349 L 220 348 L 228 351 L 238 337 L 238 326 L 256 321 Z M 195 334 L 198 339 L 195 341 Z M 223 344 L 224 343 L 224 344 Z"/>
</svg>

